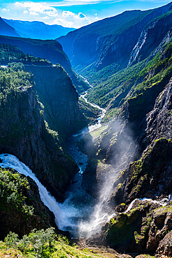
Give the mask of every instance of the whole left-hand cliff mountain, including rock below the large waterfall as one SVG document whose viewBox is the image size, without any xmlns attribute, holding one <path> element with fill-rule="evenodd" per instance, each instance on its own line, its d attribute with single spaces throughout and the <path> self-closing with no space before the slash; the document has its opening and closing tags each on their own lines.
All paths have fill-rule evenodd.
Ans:
<svg viewBox="0 0 172 258">
<path fill-rule="evenodd" d="M 80 109 L 78 93 L 61 65 L 52 66 L 46 59 L 5 44 L 0 45 L 0 63 L 8 63 L 0 68 L 0 153 L 15 155 L 13 164 L 24 162 L 22 167 L 29 166 L 47 190 L 62 200 L 79 170 L 65 149 L 65 139 L 87 126 L 81 109 L 93 119 L 97 109 L 84 104 Z M 35 228 L 55 227 L 59 233 L 54 214 L 41 201 L 38 183 L 21 175 L 21 167 L 16 168 L 19 172 L 4 168 L 1 158 L 0 238 L 10 231 L 22 237 Z M 43 189 L 42 193 L 45 196 Z"/>
</svg>

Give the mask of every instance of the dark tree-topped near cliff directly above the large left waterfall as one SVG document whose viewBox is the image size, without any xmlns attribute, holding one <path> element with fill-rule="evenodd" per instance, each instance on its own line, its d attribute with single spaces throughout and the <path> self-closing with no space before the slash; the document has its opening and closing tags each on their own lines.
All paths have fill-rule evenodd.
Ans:
<svg viewBox="0 0 172 258">
<path fill-rule="evenodd" d="M 0 151 L 16 155 L 61 198 L 77 165 L 59 144 L 58 133 L 45 128 L 30 76 L 1 70 Z"/>
</svg>

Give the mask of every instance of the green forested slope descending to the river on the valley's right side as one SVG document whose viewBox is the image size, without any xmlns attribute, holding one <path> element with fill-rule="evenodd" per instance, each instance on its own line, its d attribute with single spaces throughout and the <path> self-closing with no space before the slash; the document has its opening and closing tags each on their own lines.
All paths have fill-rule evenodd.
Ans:
<svg viewBox="0 0 172 258">
<path fill-rule="evenodd" d="M 141 101 L 145 103 L 145 94 L 155 95 L 155 93 L 150 93 L 151 88 L 155 88 L 156 96 L 153 98 L 156 98 L 171 77 L 171 54 L 172 43 L 168 43 L 152 60 L 145 59 L 134 66 L 120 70 L 104 82 L 101 82 L 100 77 L 97 86 L 88 92 L 88 100 L 101 107 L 107 107 L 104 121 L 108 121 L 118 114 L 127 101 L 131 100 L 133 108 L 139 107 Z"/>
</svg>

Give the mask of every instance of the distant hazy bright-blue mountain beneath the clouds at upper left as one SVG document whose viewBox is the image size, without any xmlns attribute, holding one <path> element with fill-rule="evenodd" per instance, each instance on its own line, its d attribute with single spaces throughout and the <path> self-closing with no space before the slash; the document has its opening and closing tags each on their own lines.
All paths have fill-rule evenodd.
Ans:
<svg viewBox="0 0 172 258">
<path fill-rule="evenodd" d="M 44 22 L 28 22 L 20 20 L 3 19 L 6 24 L 10 25 L 23 38 L 39 38 L 41 40 L 52 40 L 65 36 L 68 32 L 74 31 L 74 28 L 65 28 L 61 25 L 48 25 Z M 6 34 L 4 34 L 6 35 Z M 8 34 L 6 36 L 17 36 Z"/>
</svg>

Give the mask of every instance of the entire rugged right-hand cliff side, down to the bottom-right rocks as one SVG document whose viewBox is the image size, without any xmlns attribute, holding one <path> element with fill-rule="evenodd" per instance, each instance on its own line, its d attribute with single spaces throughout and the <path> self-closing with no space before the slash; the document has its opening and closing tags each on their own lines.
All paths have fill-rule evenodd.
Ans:
<svg viewBox="0 0 172 258">
<path fill-rule="evenodd" d="M 118 117 L 97 139 L 97 158 L 118 174 L 106 203 L 118 215 L 93 241 L 160 257 L 171 256 L 171 204 L 157 202 L 169 197 L 172 184 L 171 44 L 153 60 L 123 100 Z M 102 173 L 107 175 L 108 169 Z M 141 202 L 145 197 L 155 202 Z"/>
</svg>

